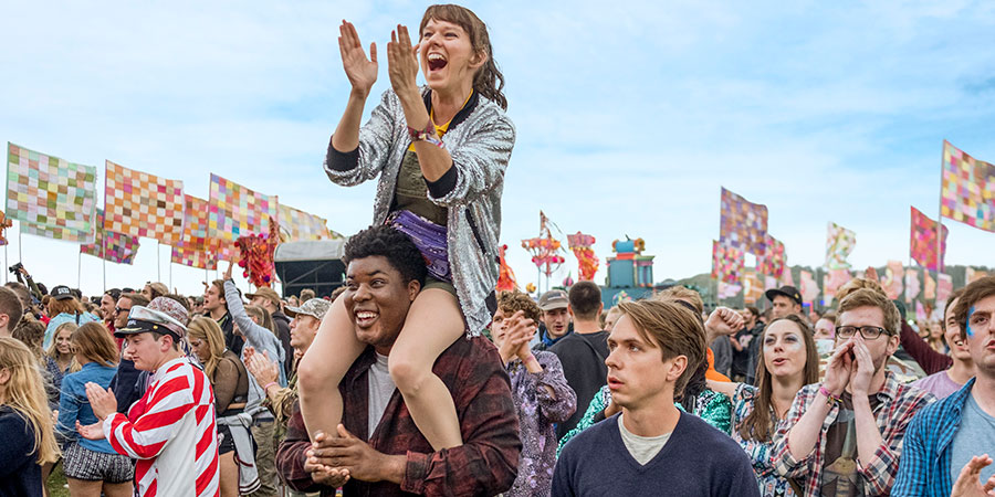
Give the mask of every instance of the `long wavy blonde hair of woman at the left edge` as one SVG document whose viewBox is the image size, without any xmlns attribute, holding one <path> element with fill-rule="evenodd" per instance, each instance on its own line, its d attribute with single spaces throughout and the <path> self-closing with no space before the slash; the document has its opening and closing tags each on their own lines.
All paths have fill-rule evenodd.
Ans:
<svg viewBox="0 0 995 497">
<path fill-rule="evenodd" d="M 10 373 L 3 405 L 13 409 L 31 425 L 34 432 L 32 451 L 38 453 L 38 464 L 46 464 L 59 458 L 59 444 L 40 368 L 28 346 L 14 338 L 0 338 L 0 370 Z"/>
</svg>

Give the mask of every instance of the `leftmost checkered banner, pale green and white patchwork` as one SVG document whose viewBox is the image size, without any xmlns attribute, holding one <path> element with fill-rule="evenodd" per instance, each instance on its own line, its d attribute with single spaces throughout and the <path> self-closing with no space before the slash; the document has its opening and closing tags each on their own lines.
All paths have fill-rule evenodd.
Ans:
<svg viewBox="0 0 995 497">
<path fill-rule="evenodd" d="M 93 240 L 95 197 L 95 167 L 7 144 L 7 216 L 22 233 Z"/>
</svg>

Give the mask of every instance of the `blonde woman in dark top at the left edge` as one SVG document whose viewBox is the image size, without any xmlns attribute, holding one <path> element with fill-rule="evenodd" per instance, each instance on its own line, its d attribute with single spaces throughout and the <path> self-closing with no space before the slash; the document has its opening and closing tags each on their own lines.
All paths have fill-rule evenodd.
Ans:
<svg viewBox="0 0 995 497">
<path fill-rule="evenodd" d="M 38 361 L 20 340 L 0 338 L 0 495 L 42 497 L 41 467 L 57 458 Z"/>
</svg>

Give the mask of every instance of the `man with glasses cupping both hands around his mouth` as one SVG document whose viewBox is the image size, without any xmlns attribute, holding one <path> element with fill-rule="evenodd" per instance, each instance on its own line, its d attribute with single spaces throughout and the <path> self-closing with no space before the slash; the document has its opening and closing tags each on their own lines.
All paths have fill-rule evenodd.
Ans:
<svg viewBox="0 0 995 497">
<path fill-rule="evenodd" d="M 909 422 L 935 398 L 896 381 L 884 364 L 901 317 L 880 292 L 839 304 L 836 351 L 821 383 L 803 388 L 778 425 L 773 459 L 803 495 L 887 495 Z"/>
</svg>

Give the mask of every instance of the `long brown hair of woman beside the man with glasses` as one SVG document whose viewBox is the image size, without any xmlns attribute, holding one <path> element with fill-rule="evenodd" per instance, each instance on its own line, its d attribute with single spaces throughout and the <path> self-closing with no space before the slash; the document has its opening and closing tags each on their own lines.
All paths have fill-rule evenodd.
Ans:
<svg viewBox="0 0 995 497">
<path fill-rule="evenodd" d="M 798 327 L 798 331 L 800 331 L 802 339 L 805 341 L 805 369 L 802 371 L 803 382 L 802 384 L 811 384 L 819 381 L 819 352 L 816 349 L 815 339 L 813 338 L 813 331 L 808 328 L 808 325 L 802 320 L 798 316 L 793 314 L 787 315 L 783 318 L 774 319 L 771 321 L 771 325 L 777 322 L 788 320 L 795 324 Z M 771 329 L 771 325 L 764 329 L 764 332 L 757 337 L 757 340 L 763 340 L 767 335 L 767 330 Z M 739 427 L 740 436 L 743 440 L 755 440 L 757 442 L 769 442 L 771 436 L 774 434 L 774 422 L 775 420 L 771 416 L 771 413 L 774 411 L 774 402 L 772 400 L 774 395 L 774 379 L 771 378 L 771 371 L 767 371 L 767 364 L 764 360 L 764 345 L 761 341 L 760 347 L 756 348 L 756 395 L 753 400 L 753 412 L 746 415 L 743 420 L 743 423 Z M 776 416 L 777 414 L 774 413 Z"/>
</svg>

